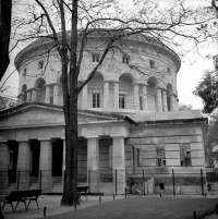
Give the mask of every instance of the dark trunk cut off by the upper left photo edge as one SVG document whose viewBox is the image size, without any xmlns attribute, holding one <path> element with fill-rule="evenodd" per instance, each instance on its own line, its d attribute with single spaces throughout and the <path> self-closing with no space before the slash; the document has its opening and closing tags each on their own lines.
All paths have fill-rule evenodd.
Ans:
<svg viewBox="0 0 218 219">
<path fill-rule="evenodd" d="M 0 80 L 9 66 L 12 0 L 0 0 Z"/>
</svg>

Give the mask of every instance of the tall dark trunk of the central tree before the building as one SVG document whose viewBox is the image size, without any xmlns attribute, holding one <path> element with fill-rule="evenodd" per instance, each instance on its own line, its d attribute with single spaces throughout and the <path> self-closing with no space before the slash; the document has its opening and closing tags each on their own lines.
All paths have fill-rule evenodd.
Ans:
<svg viewBox="0 0 218 219">
<path fill-rule="evenodd" d="M 65 175 L 61 205 L 78 204 L 77 197 L 77 0 L 73 1 L 71 28 L 71 63 L 63 76 L 65 117 Z M 63 72 L 62 72 L 63 73 Z M 68 88 L 68 78 L 70 87 Z M 70 92 L 70 95 L 68 95 Z"/>
</svg>

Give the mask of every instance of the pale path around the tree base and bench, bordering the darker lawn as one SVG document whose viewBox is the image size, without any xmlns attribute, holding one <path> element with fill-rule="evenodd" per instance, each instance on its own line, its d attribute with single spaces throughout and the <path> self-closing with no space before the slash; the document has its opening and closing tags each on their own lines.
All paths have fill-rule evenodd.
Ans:
<svg viewBox="0 0 218 219">
<path fill-rule="evenodd" d="M 4 219 L 35 219 L 44 217 L 44 207 L 46 207 L 46 216 L 53 216 L 63 212 L 69 212 L 75 210 L 75 207 L 60 206 L 61 195 L 41 195 L 38 197 L 39 209 L 36 206 L 36 203 L 31 203 L 28 210 L 25 210 L 24 204 L 20 203 L 15 212 L 13 214 L 10 205 L 5 205 L 3 209 Z M 133 196 L 135 197 L 135 196 Z M 159 195 L 146 195 L 146 197 L 159 197 Z M 124 195 L 114 196 L 117 199 L 124 198 Z M 177 198 L 204 198 L 201 195 L 179 195 Z M 208 195 L 207 198 L 218 198 L 215 195 Z M 102 203 L 113 202 L 113 196 L 101 196 Z M 84 196 L 82 196 L 81 205 L 76 209 L 86 208 L 89 206 L 99 205 L 99 196 L 87 196 L 87 202 Z M 217 215 L 211 215 L 205 217 L 205 219 L 218 219 Z"/>
</svg>

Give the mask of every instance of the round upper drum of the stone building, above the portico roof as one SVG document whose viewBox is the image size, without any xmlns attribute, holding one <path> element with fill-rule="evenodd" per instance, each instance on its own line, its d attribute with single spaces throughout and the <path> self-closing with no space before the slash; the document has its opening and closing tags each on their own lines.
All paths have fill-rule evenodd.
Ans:
<svg viewBox="0 0 218 219">
<path fill-rule="evenodd" d="M 95 35 L 83 56 L 78 84 L 99 62 L 105 38 Z M 177 73 L 180 58 L 156 40 L 123 40 L 122 51 L 110 51 L 78 97 L 78 109 L 113 112 L 178 110 Z M 20 102 L 62 105 L 61 64 L 51 40 L 38 39 L 15 59 L 20 73 Z M 25 88 L 25 90 L 24 90 Z"/>
</svg>

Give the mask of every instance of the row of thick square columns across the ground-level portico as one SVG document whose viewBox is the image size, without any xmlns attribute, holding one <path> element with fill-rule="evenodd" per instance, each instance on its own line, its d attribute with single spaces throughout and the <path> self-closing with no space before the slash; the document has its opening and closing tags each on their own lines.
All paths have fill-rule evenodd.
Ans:
<svg viewBox="0 0 218 219">
<path fill-rule="evenodd" d="M 112 169 L 117 171 L 117 192 L 123 194 L 125 188 L 125 157 L 124 157 L 124 137 L 125 136 L 111 136 L 113 138 L 113 153 L 112 153 Z M 99 136 L 87 136 L 87 177 L 90 170 L 90 182 L 92 192 L 100 192 L 99 190 Z M 44 192 L 51 192 L 52 190 L 52 139 L 50 138 L 38 138 L 40 142 L 40 154 L 39 154 L 39 170 L 41 170 L 41 188 Z M 16 139 L 19 145 L 17 153 L 17 168 L 20 171 L 20 188 L 26 190 L 31 186 L 29 172 L 31 162 L 33 159 L 31 156 L 31 141 L 29 139 Z M 9 185 L 8 172 L 9 171 L 9 142 L 0 142 L 0 177 L 1 187 L 5 190 Z M 62 170 L 65 170 L 65 139 L 63 139 L 63 162 Z M 113 171 L 114 172 L 114 171 Z M 62 174 L 62 182 L 63 182 Z M 113 184 L 114 184 L 113 175 Z M 113 193 L 116 192 L 113 186 Z"/>
</svg>

